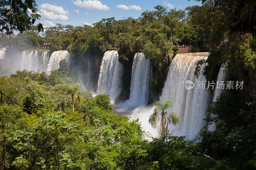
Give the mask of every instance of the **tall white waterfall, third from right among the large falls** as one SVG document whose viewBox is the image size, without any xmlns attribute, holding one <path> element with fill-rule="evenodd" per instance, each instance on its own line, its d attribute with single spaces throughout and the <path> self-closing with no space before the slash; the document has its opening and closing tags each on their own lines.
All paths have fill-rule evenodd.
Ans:
<svg viewBox="0 0 256 170">
<path fill-rule="evenodd" d="M 97 93 L 110 95 L 112 102 L 122 91 L 123 65 L 118 61 L 118 57 L 118 53 L 115 50 L 105 52 L 100 65 L 98 79 Z"/>
</svg>

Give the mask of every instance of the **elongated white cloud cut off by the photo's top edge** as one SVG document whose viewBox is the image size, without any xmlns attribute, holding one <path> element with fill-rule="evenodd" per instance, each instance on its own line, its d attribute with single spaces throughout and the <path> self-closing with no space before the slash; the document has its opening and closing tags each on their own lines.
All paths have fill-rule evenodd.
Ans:
<svg viewBox="0 0 256 170">
<path fill-rule="evenodd" d="M 72 0 L 72 2 L 76 6 L 79 6 L 87 10 L 111 11 L 111 9 L 107 5 L 101 4 L 101 2 L 98 0 L 84 0 L 83 2 L 81 0 Z"/>
</svg>

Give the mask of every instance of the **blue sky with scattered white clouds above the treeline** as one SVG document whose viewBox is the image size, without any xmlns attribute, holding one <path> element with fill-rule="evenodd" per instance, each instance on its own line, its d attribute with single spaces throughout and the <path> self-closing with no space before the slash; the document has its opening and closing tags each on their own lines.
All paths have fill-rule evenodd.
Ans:
<svg viewBox="0 0 256 170">
<path fill-rule="evenodd" d="M 185 9 L 192 5 L 201 5 L 194 0 L 36 0 L 40 23 L 44 26 L 91 25 L 102 18 L 115 17 L 116 20 L 132 17 L 138 18 L 143 11 L 153 11 L 154 6 L 162 5 L 168 9 Z"/>
</svg>

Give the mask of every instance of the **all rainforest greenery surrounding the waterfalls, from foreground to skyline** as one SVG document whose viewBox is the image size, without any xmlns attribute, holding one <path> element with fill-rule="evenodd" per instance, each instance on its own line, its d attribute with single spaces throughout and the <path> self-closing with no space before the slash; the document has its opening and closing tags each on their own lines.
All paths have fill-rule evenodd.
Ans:
<svg viewBox="0 0 256 170">
<path fill-rule="evenodd" d="M 252 0 L 200 2 L 202 6 L 185 10 L 158 5 L 139 18 L 103 18 L 93 26 L 57 24 L 44 32 L 42 25 L 32 26 L 39 16 L 21 26 L 13 21 L 22 15 L 17 12 L 6 17 L 13 23 L 10 29 L 0 21 L 0 48 L 7 52 L 40 50 L 40 44 L 52 43 L 50 53 L 68 50 L 74 61 L 69 66 L 61 60 L 60 68 L 49 75 L 30 70 L 1 75 L 1 168 L 256 169 L 256 4 Z M 15 3 L 15 8 L 22 7 L 23 2 Z M 32 8 L 29 3 L 27 8 Z M 12 34 L 13 29 L 22 33 Z M 221 41 L 229 43 L 228 49 L 220 50 Z M 119 100 L 126 100 L 133 56 L 143 52 L 153 68 L 153 97 L 148 104 L 154 103 L 169 70 L 168 55 L 177 53 L 172 49 L 176 44 L 211 53 L 196 63 L 196 76 L 216 81 L 221 64 L 226 63 L 228 78 L 244 81 L 243 89 L 228 90 L 211 104 L 205 121 L 215 123 L 216 130 L 203 127 L 194 141 L 170 133 L 152 137 L 142 130 L 140 120 L 113 113 L 108 95 L 92 97 L 90 90 L 80 90 L 76 83 L 77 70 L 86 69 L 83 58 L 101 59 L 107 50 L 117 50 L 125 67 Z M 6 67 L 0 59 L 0 71 Z"/>
</svg>

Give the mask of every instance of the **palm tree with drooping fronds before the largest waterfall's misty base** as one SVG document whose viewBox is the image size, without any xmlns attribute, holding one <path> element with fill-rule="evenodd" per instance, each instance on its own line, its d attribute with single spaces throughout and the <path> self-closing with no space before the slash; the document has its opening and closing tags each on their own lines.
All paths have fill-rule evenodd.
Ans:
<svg viewBox="0 0 256 170">
<path fill-rule="evenodd" d="M 153 128 L 157 127 L 157 122 L 161 119 L 160 122 L 160 131 L 162 136 L 166 136 L 168 132 L 168 123 L 172 123 L 173 125 L 179 124 L 179 117 L 177 114 L 173 112 L 168 112 L 168 108 L 172 107 L 172 101 L 156 101 L 156 108 L 154 112 L 149 117 L 149 123 Z"/>
</svg>

